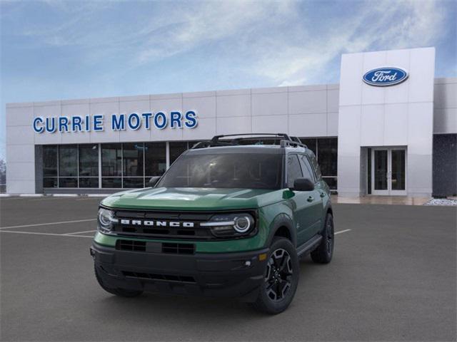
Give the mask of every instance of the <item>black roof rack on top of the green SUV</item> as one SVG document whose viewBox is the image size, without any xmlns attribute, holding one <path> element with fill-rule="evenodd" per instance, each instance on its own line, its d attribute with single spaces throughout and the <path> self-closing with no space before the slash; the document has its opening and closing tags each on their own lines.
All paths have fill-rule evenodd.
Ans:
<svg viewBox="0 0 457 342">
<path fill-rule="evenodd" d="M 244 135 L 249 135 L 249 137 L 244 137 Z M 281 138 L 279 140 L 279 145 L 281 147 L 305 147 L 300 138 L 298 137 L 289 137 L 286 133 L 240 133 L 240 134 L 227 134 L 227 135 L 214 135 L 211 140 L 204 140 L 201 142 L 197 142 L 191 149 L 196 148 L 204 148 L 204 147 L 216 147 L 216 146 L 236 146 L 240 145 L 241 140 L 251 140 L 255 135 L 259 138 Z M 233 138 L 230 141 L 221 141 L 221 138 L 228 138 L 228 137 L 241 137 L 241 138 Z"/>
</svg>

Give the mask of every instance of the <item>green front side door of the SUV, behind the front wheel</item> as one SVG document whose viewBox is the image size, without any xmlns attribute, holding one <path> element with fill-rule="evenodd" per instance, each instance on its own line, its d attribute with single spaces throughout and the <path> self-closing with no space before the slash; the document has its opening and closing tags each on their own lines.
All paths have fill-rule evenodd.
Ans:
<svg viewBox="0 0 457 342">
<path fill-rule="evenodd" d="M 303 177 L 298 155 L 290 154 L 287 156 L 287 187 L 293 189 L 293 182 L 297 178 Z M 303 244 L 307 239 L 309 221 L 307 218 L 308 207 L 308 192 L 293 190 L 294 196 L 288 199 L 293 211 L 293 221 L 297 232 L 297 245 Z"/>
</svg>

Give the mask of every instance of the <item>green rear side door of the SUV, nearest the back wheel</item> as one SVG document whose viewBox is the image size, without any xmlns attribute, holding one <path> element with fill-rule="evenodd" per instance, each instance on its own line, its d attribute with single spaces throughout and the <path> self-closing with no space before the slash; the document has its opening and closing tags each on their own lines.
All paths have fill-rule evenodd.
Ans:
<svg viewBox="0 0 457 342">
<path fill-rule="evenodd" d="M 303 177 L 309 178 L 314 183 L 314 190 L 308 192 L 308 208 L 306 209 L 306 223 L 308 232 L 304 233 L 303 236 L 307 239 L 313 237 L 321 231 L 322 227 L 322 211 L 323 211 L 323 197 L 326 196 L 326 192 L 318 187 L 318 181 L 311 161 L 306 155 L 299 156 L 300 165 L 303 170 Z M 306 241 L 305 240 L 305 241 Z"/>
</svg>

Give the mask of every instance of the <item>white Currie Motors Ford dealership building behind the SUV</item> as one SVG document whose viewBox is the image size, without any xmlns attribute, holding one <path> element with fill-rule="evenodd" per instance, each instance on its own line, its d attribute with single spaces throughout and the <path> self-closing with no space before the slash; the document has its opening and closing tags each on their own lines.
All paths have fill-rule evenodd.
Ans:
<svg viewBox="0 0 457 342">
<path fill-rule="evenodd" d="M 457 78 L 435 49 L 341 56 L 339 84 L 6 105 L 6 192 L 147 186 L 214 135 L 287 133 L 343 196 L 457 194 Z"/>
</svg>

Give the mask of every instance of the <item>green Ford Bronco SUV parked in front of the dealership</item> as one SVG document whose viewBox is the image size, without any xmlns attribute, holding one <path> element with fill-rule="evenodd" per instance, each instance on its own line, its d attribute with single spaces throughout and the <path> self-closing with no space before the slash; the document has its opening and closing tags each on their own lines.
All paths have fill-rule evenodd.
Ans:
<svg viewBox="0 0 457 342">
<path fill-rule="evenodd" d="M 199 142 L 151 187 L 101 201 L 91 256 L 103 289 L 237 297 L 278 314 L 298 258 L 331 261 L 330 191 L 313 152 L 286 134 L 235 136 L 246 135 Z"/>
</svg>

